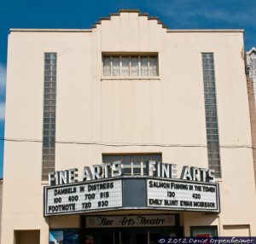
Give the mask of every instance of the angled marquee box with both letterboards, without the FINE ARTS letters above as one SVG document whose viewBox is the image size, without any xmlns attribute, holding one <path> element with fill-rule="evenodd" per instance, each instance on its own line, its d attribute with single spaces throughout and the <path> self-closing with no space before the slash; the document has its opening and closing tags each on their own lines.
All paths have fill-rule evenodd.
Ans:
<svg viewBox="0 0 256 244">
<path fill-rule="evenodd" d="M 44 216 L 128 209 L 219 212 L 218 183 L 119 177 L 44 187 Z"/>
</svg>

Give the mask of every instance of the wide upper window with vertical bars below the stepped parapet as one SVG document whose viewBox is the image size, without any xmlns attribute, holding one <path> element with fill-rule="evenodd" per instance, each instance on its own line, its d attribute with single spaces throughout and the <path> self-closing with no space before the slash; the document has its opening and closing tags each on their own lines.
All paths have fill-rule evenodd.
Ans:
<svg viewBox="0 0 256 244">
<path fill-rule="evenodd" d="M 158 76 L 157 55 L 103 55 L 103 76 Z"/>
</svg>

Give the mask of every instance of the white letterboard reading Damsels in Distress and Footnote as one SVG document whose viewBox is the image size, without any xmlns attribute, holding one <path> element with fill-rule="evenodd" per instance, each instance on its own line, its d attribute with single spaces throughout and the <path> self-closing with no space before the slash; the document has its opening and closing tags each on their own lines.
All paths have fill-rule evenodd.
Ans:
<svg viewBox="0 0 256 244">
<path fill-rule="evenodd" d="M 100 211 L 122 206 L 121 180 L 75 183 L 44 189 L 44 215 Z"/>
</svg>

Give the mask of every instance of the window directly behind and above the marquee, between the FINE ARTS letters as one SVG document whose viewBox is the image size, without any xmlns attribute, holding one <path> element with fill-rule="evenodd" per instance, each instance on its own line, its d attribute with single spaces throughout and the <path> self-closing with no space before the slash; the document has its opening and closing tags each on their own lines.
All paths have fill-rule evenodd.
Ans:
<svg viewBox="0 0 256 244">
<path fill-rule="evenodd" d="M 146 162 L 162 161 L 161 154 L 103 154 L 103 163 L 121 161 L 124 175 L 146 175 Z"/>
</svg>

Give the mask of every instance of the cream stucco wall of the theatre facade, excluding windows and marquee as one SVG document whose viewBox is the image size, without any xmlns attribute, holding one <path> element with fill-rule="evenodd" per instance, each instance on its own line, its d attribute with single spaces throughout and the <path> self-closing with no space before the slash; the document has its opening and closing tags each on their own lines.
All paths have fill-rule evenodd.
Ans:
<svg viewBox="0 0 256 244">
<path fill-rule="evenodd" d="M 44 52 L 57 53 L 56 141 L 131 143 L 118 148 L 56 143 L 55 169 L 79 171 L 101 163 L 102 153 L 130 152 L 160 152 L 163 161 L 179 168 L 207 167 L 201 53 L 213 52 L 221 212 L 183 213 L 184 234 L 190 234 L 189 226 L 213 224 L 223 235 L 223 225 L 236 224 L 249 225 L 256 235 L 242 51 L 242 32 L 166 31 L 157 20 L 125 12 L 91 30 L 10 32 L 5 137 L 20 142 L 7 141 L 4 147 L 2 243 L 12 243 L 14 229 L 40 229 L 40 243 L 48 243 L 48 229 L 66 223 L 67 217 L 43 217 Z M 160 76 L 103 78 L 102 52 L 158 53 Z M 133 145 L 140 143 L 150 146 Z M 67 227 L 79 227 L 79 216 L 69 219 Z"/>
</svg>

